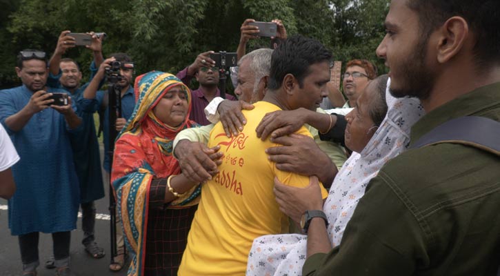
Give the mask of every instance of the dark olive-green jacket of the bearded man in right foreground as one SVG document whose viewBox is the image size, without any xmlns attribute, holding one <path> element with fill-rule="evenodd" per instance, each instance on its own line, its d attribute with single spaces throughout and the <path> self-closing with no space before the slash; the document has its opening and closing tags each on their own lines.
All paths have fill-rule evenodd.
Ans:
<svg viewBox="0 0 500 276">
<path fill-rule="evenodd" d="M 413 126 L 412 141 L 468 115 L 500 121 L 500 83 L 432 110 Z M 437 144 L 383 166 L 340 246 L 310 256 L 303 275 L 497 275 L 499 263 L 500 157 Z"/>
</svg>

